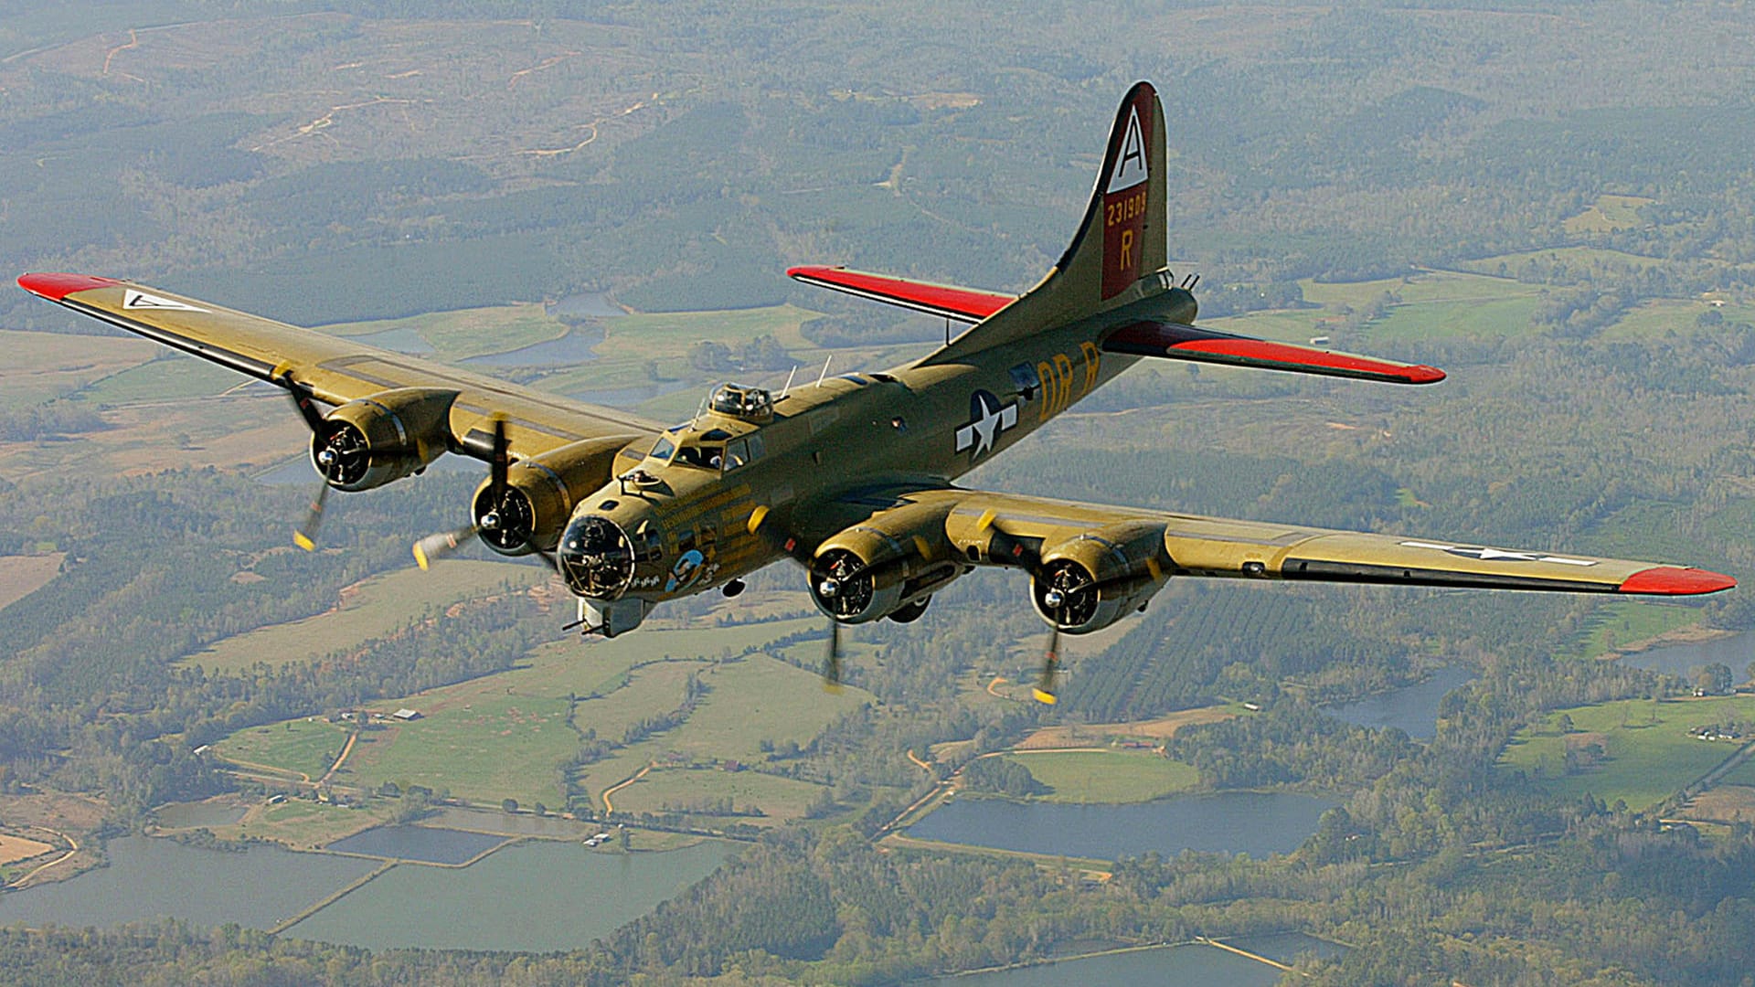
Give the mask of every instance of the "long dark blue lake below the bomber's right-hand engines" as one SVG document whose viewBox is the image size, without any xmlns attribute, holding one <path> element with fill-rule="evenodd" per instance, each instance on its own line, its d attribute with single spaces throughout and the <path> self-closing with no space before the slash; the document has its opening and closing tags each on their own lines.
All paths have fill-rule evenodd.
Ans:
<svg viewBox="0 0 1755 987">
<path fill-rule="evenodd" d="M 1123 806 L 956 799 L 907 829 L 920 839 L 1114 861 L 1157 850 L 1286 854 L 1334 808 L 1297 792 L 1171 796 Z"/>
</svg>

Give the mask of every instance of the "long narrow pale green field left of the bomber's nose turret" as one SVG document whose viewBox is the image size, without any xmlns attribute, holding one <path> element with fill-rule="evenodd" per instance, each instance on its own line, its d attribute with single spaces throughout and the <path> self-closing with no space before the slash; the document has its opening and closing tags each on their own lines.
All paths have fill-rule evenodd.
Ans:
<svg viewBox="0 0 1755 987">
<path fill-rule="evenodd" d="M 535 566 L 469 558 L 448 558 L 426 573 L 411 566 L 365 580 L 346 594 L 340 609 L 216 641 L 184 662 L 209 673 L 244 671 L 256 662 L 309 662 L 390 634 L 428 609 L 441 611 L 458 601 L 493 595 L 507 583 L 530 587 L 544 574 L 546 569 Z"/>
</svg>

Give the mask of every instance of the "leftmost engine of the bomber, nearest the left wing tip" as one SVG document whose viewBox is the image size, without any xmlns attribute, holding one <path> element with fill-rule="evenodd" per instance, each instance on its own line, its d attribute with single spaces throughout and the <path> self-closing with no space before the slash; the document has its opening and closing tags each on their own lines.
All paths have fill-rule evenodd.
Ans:
<svg viewBox="0 0 1755 987">
<path fill-rule="evenodd" d="M 349 400 L 311 436 L 311 462 L 337 490 L 370 490 L 426 469 L 451 443 L 455 390 L 397 388 Z"/>
</svg>

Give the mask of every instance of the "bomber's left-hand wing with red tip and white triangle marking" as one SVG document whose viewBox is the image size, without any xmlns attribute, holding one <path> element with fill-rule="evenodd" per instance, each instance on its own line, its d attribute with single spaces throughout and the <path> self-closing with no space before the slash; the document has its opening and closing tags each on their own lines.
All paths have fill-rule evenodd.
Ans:
<svg viewBox="0 0 1755 987">
<path fill-rule="evenodd" d="M 449 406 L 453 450 L 488 458 L 491 416 L 505 418 L 518 458 L 581 439 L 649 436 L 660 425 L 623 411 L 548 395 L 484 374 L 391 353 L 353 339 L 225 309 L 158 288 L 90 274 L 25 274 L 26 292 L 240 374 L 293 381 L 318 400 L 346 404 L 395 388 L 458 392 Z"/>
</svg>

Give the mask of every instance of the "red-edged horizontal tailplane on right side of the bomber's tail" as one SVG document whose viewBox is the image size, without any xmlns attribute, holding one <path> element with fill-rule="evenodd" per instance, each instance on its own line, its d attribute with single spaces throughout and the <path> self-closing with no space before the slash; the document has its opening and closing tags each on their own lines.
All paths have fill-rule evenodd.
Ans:
<svg viewBox="0 0 1755 987">
<path fill-rule="evenodd" d="M 1316 346 L 1272 342 L 1199 328 L 1172 321 L 1135 321 L 1109 334 L 1102 342 L 1107 353 L 1132 357 L 1165 357 L 1200 364 L 1230 364 L 1264 371 L 1292 371 L 1297 374 L 1325 374 L 1330 378 L 1358 378 L 1392 385 L 1430 385 L 1444 379 L 1444 371 L 1425 364 L 1397 364 L 1376 357 L 1355 357 Z"/>
</svg>

